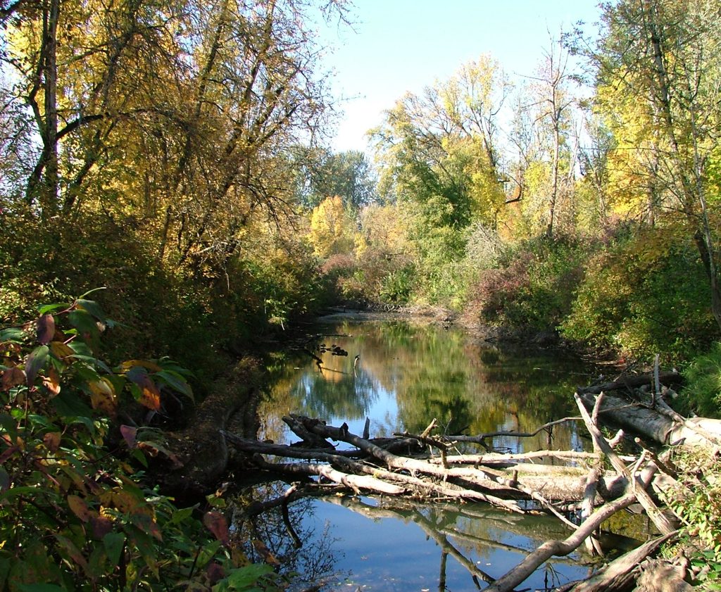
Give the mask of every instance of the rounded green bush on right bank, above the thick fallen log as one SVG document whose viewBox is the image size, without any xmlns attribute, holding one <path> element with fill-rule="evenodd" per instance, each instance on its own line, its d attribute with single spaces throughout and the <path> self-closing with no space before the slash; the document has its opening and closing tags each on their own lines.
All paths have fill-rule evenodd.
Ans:
<svg viewBox="0 0 721 592">
<path fill-rule="evenodd" d="M 645 228 L 622 234 L 588 262 L 562 332 L 599 350 L 688 358 L 714 335 L 709 301 L 688 239 Z"/>
</svg>

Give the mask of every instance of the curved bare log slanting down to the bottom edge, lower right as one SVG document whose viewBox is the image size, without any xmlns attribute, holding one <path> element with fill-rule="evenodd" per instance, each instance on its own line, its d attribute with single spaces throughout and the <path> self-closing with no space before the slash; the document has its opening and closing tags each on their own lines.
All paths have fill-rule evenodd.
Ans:
<svg viewBox="0 0 721 592">
<path fill-rule="evenodd" d="M 526 580 L 539 565 L 549 560 L 554 555 L 568 555 L 578 549 L 587 536 L 593 533 L 603 521 L 608 520 L 619 510 L 628 508 L 629 505 L 636 501 L 635 493 L 624 495 L 623 498 L 609 502 L 598 508 L 591 516 L 589 516 L 577 531 L 562 541 L 547 541 L 542 544 L 531 554 L 521 561 L 516 567 L 513 567 L 505 575 L 501 576 L 491 586 L 485 589 L 485 592 L 510 592 L 516 588 L 518 584 Z"/>
</svg>

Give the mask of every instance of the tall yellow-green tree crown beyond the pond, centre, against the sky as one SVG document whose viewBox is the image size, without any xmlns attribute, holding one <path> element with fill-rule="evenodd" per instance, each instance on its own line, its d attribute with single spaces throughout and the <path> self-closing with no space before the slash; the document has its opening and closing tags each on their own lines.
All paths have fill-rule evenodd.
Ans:
<svg viewBox="0 0 721 592">
<path fill-rule="evenodd" d="M 381 193 L 429 214 L 440 204 L 435 224 L 455 229 L 475 217 L 494 221 L 504 201 L 497 118 L 509 87 L 497 62 L 482 56 L 422 95 L 406 94 L 371 133 Z"/>
</svg>

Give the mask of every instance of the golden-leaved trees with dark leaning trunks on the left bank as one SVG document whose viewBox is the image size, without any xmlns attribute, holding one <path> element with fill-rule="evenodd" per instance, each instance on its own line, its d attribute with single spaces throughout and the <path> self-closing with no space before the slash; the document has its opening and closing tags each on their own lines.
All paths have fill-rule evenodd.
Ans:
<svg viewBox="0 0 721 592">
<path fill-rule="evenodd" d="M 33 129 L 15 125 L 14 144 L 24 136 L 38 146 L 27 206 L 46 221 L 102 211 L 154 245 L 163 265 L 222 275 L 252 217 L 292 213 L 283 152 L 327 113 L 311 9 L 305 0 L 4 6 L 1 58 L 14 69 L 5 113 L 28 105 Z"/>
</svg>

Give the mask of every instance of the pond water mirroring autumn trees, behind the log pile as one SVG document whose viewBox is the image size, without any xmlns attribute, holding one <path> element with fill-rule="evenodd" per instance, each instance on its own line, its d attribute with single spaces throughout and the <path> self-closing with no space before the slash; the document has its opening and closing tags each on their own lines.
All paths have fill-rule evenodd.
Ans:
<svg viewBox="0 0 721 592">
<path fill-rule="evenodd" d="M 288 412 L 332 425 L 345 421 L 353 433 L 363 433 L 368 417 L 374 437 L 419 433 L 433 418 L 448 434 L 533 431 L 572 415 L 575 386 L 589 379 L 578 360 L 483 348 L 440 327 L 342 322 L 321 330 L 314 354 L 322 367 L 308 353 L 289 356 L 270 385 L 262 436 L 287 441 L 280 416 Z M 348 355 L 321 353 L 319 345 L 340 346 Z M 495 444 L 524 451 L 544 448 L 547 441 L 541 433 L 532 439 L 506 436 Z M 554 447 L 581 446 L 574 425 L 554 430 Z"/>
</svg>

